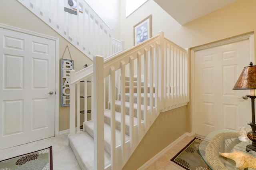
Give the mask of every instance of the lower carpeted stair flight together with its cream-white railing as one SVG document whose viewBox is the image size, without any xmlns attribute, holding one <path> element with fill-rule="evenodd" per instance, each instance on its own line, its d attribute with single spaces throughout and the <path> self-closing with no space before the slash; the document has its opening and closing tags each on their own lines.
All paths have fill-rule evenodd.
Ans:
<svg viewBox="0 0 256 170">
<path fill-rule="evenodd" d="M 92 89 L 85 85 L 84 91 L 92 94 L 93 120 L 85 121 L 84 130 L 76 132 L 79 82 L 88 79 Z M 112 57 L 94 57 L 93 65 L 72 70 L 70 81 L 70 146 L 80 166 L 122 169 L 161 112 L 188 104 L 188 55 L 159 32 Z M 89 148 L 81 148 L 88 146 L 78 139 L 90 141 Z M 85 155 L 92 153 L 92 146 L 94 158 Z"/>
</svg>

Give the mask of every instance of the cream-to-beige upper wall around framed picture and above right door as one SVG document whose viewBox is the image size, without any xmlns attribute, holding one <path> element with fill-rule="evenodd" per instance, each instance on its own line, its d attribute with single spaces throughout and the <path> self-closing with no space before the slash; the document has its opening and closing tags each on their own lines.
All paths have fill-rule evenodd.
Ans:
<svg viewBox="0 0 256 170">
<path fill-rule="evenodd" d="M 127 18 L 125 17 L 125 0 L 121 0 L 120 8 L 120 30 L 122 30 L 120 38 L 125 41 L 126 48 L 133 46 L 133 26 L 150 14 L 152 14 L 152 35 L 156 36 L 159 31 L 163 31 L 166 38 L 183 48 L 195 47 L 256 30 L 255 0 L 238 0 L 183 26 L 162 10 L 154 0 L 148 0 Z"/>
</svg>

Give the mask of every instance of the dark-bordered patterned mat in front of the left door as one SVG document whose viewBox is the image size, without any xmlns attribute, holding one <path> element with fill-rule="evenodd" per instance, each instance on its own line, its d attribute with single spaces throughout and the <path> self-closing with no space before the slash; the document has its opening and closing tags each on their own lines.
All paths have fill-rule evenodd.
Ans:
<svg viewBox="0 0 256 170">
<path fill-rule="evenodd" d="M 52 170 L 52 146 L 0 161 L 0 170 Z"/>
</svg>

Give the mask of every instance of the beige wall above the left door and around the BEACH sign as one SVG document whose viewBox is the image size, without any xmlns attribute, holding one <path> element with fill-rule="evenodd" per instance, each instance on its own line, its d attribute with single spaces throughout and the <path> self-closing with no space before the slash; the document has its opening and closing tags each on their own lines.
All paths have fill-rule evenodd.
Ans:
<svg viewBox="0 0 256 170">
<path fill-rule="evenodd" d="M 4 5 L 0 6 L 0 23 L 24 30 L 30 30 L 40 34 L 59 38 L 59 55 L 60 59 L 64 54 L 66 45 L 70 50 L 72 60 L 74 60 L 74 69 L 83 69 L 83 65 L 92 64 L 92 60 L 86 57 L 83 53 L 78 51 L 72 44 L 62 38 L 52 28 L 47 26 L 44 22 L 39 20 L 34 14 L 28 11 L 17 0 L 8 0 Z M 63 55 L 64 59 L 70 59 L 68 52 Z M 61 92 L 61 89 L 59 89 Z M 56 96 L 58 97 L 58 96 Z M 61 100 L 60 100 L 61 101 Z M 69 128 L 69 107 L 59 107 L 59 131 Z"/>
</svg>

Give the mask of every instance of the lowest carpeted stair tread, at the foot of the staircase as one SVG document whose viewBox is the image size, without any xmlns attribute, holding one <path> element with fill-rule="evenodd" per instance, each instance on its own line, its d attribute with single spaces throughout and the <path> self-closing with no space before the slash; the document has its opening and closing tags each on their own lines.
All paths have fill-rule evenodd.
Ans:
<svg viewBox="0 0 256 170">
<path fill-rule="evenodd" d="M 69 137 L 70 147 L 82 170 L 94 169 L 94 142 L 86 132 L 76 133 Z M 110 164 L 110 154 L 104 152 L 105 167 Z"/>
</svg>

